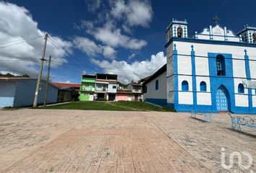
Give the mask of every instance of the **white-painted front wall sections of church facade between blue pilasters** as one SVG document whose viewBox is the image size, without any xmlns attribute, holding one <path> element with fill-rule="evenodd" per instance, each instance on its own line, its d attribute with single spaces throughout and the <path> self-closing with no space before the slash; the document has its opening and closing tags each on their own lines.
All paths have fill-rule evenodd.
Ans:
<svg viewBox="0 0 256 173">
<path fill-rule="evenodd" d="M 213 45 L 206 43 L 186 43 L 174 41 L 168 45 L 168 52 L 176 44 L 176 50 L 178 51 L 178 73 L 188 76 L 179 76 L 179 91 L 182 90 L 182 81 L 187 80 L 189 82 L 189 91 L 192 91 L 192 66 L 191 66 L 191 45 L 194 46 L 195 50 L 195 73 L 197 76 L 197 91 L 200 91 L 200 81 L 203 80 L 207 84 L 207 91 L 210 92 L 210 78 L 209 78 L 209 64 L 208 64 L 208 53 L 229 53 L 233 58 L 233 76 L 234 76 L 234 92 L 237 93 L 237 87 L 239 83 L 242 83 L 246 79 L 246 69 L 244 61 L 244 49 L 247 50 L 249 56 L 249 68 L 252 79 L 256 79 L 256 48 L 244 47 L 238 45 Z M 168 53 L 172 54 L 172 53 Z M 181 56 L 179 56 L 181 54 Z M 200 57 L 197 57 L 200 56 Z M 254 61 L 250 61 L 254 60 Z M 173 56 L 167 58 L 167 71 L 171 73 L 171 69 L 174 67 Z M 226 67 L 230 68 L 230 67 Z M 171 73 L 173 74 L 173 73 Z M 202 77 L 201 77 L 202 76 Z M 205 76 L 205 79 L 202 79 Z M 242 78 L 242 79 L 241 79 Z M 173 80 L 168 79 L 168 86 L 173 86 Z M 244 89 L 244 94 L 247 94 L 247 89 Z M 252 92 L 254 93 L 254 91 Z M 238 94 L 235 97 L 236 106 L 248 106 L 248 96 Z M 174 94 L 168 93 L 168 102 L 174 102 Z M 256 99 L 253 97 L 253 105 L 256 105 Z M 182 92 L 179 94 L 179 104 L 192 104 L 192 94 L 188 92 Z M 210 94 L 197 94 L 198 105 L 211 105 Z"/>
</svg>

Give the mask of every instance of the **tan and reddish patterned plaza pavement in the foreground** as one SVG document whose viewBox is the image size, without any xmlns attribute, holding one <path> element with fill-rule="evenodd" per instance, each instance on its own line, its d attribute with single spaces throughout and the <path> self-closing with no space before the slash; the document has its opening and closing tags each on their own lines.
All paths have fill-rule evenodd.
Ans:
<svg viewBox="0 0 256 173">
<path fill-rule="evenodd" d="M 0 110 L 0 172 L 256 172 L 256 130 L 242 130 L 226 114 Z M 222 147 L 252 167 L 223 169 Z"/>
</svg>

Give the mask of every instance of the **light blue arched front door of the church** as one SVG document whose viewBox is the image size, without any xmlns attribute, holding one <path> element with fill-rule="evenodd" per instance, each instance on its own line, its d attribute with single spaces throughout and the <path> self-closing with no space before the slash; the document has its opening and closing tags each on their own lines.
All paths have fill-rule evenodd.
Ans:
<svg viewBox="0 0 256 173">
<path fill-rule="evenodd" d="M 220 86 L 216 93 L 216 106 L 219 111 L 229 110 L 229 100 L 227 97 L 226 89 Z"/>
</svg>

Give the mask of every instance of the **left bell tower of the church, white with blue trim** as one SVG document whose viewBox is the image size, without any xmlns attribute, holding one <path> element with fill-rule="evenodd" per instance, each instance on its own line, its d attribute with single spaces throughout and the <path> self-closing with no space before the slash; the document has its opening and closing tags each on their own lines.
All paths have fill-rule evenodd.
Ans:
<svg viewBox="0 0 256 173">
<path fill-rule="evenodd" d="M 179 21 L 172 19 L 171 24 L 166 30 L 166 41 L 171 40 L 172 37 L 187 38 L 187 20 Z"/>
</svg>

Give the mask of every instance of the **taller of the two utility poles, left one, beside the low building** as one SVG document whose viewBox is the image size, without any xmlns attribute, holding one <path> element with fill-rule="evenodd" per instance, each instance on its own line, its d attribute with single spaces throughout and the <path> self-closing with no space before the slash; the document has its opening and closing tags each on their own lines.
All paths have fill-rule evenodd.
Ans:
<svg viewBox="0 0 256 173">
<path fill-rule="evenodd" d="M 43 47 L 43 57 L 40 59 L 41 60 L 41 66 L 40 66 L 40 71 L 38 74 L 38 83 L 36 84 L 36 89 L 35 89 L 35 99 L 34 99 L 34 104 L 33 107 L 37 107 L 38 106 L 38 92 L 40 89 L 40 81 L 41 81 L 41 77 L 42 77 L 42 71 L 43 71 L 43 61 L 45 60 L 45 56 L 46 56 L 46 43 L 47 43 L 47 39 L 48 39 L 48 34 L 46 34 L 46 36 L 44 37 L 44 47 Z"/>
</svg>

